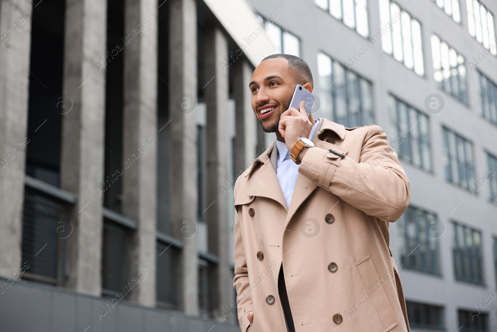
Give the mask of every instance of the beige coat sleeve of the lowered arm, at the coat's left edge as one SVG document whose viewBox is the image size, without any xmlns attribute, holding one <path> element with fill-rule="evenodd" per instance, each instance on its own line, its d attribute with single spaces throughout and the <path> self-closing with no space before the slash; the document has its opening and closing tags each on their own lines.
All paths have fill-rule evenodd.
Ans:
<svg viewBox="0 0 497 332">
<path fill-rule="evenodd" d="M 237 197 L 237 185 L 235 183 L 234 196 Z M 235 239 L 233 257 L 235 261 L 235 278 L 233 278 L 233 287 L 237 290 L 237 312 L 238 323 L 242 332 L 246 332 L 250 322 L 247 315 L 253 311 L 252 297 L 249 291 L 247 260 L 245 258 L 245 249 L 242 239 L 242 230 L 238 220 L 238 209 L 235 207 L 235 225 L 233 226 L 233 236 Z"/>
</svg>

